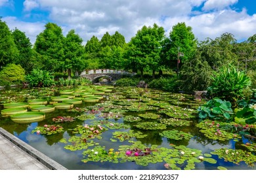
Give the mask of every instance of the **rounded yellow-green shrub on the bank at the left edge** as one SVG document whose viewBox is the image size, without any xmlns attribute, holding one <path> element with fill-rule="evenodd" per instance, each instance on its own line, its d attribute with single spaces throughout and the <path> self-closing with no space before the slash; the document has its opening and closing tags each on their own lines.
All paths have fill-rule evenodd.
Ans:
<svg viewBox="0 0 256 183">
<path fill-rule="evenodd" d="M 24 81 L 25 70 L 20 65 L 8 64 L 0 71 L 2 84 L 19 84 Z"/>
</svg>

